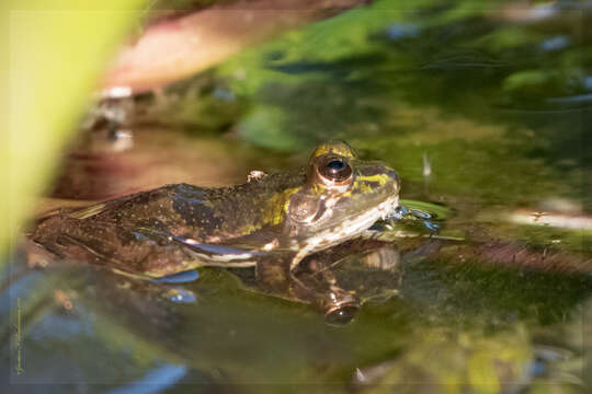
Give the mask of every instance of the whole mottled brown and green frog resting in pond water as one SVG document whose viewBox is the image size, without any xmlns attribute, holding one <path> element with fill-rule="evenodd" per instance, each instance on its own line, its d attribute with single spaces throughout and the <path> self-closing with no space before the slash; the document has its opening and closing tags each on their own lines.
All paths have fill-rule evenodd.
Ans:
<svg viewBox="0 0 592 394">
<path fill-rule="evenodd" d="M 243 185 L 167 185 L 60 210 L 42 218 L 31 239 L 61 258 L 147 278 L 254 266 L 263 289 L 293 294 L 306 288 L 294 276 L 299 263 L 389 216 L 399 187 L 394 170 L 361 161 L 345 142 L 333 141 L 319 146 L 303 170 L 260 174 Z M 326 310 L 349 303 L 337 289 L 329 286 L 325 294 L 335 300 L 332 306 L 314 303 Z"/>
</svg>

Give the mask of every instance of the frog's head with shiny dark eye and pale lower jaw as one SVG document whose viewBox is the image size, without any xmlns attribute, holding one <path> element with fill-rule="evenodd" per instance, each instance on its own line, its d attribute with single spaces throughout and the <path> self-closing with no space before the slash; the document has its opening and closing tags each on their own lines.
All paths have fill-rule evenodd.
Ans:
<svg viewBox="0 0 592 394">
<path fill-rule="evenodd" d="M 399 189 L 399 176 L 384 163 L 358 160 L 343 141 L 319 146 L 304 186 L 286 202 L 292 247 L 306 256 L 355 237 L 398 206 Z"/>
</svg>

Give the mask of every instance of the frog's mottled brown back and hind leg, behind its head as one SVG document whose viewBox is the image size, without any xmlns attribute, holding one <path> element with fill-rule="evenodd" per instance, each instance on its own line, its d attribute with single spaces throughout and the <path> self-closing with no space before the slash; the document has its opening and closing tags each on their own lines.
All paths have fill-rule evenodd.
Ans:
<svg viewBox="0 0 592 394">
<path fill-rule="evenodd" d="M 60 257 L 153 277 L 170 275 L 200 265 L 186 245 L 170 235 L 223 244 L 247 242 L 243 235 L 257 233 L 251 247 L 270 242 L 265 233 L 281 225 L 263 220 L 275 208 L 270 206 L 270 187 L 283 189 L 298 179 L 286 175 L 228 188 L 167 185 L 52 216 L 39 222 L 32 239 Z"/>
</svg>

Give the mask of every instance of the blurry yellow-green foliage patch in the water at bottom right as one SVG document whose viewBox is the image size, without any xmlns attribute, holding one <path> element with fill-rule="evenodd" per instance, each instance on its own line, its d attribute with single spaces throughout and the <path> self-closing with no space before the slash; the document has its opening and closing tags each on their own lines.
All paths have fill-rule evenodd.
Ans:
<svg viewBox="0 0 592 394">
<path fill-rule="evenodd" d="M 411 381 L 431 384 L 431 394 L 464 391 L 494 394 L 527 379 L 533 355 L 524 327 L 519 325 L 496 335 L 479 334 L 459 333 L 455 337 L 437 331 L 424 333 L 423 343 L 397 362 L 383 366 L 385 372 L 378 385 L 364 392 L 388 393 L 385 386 L 397 385 L 400 393 L 415 393 L 417 386 L 406 384 Z"/>
</svg>

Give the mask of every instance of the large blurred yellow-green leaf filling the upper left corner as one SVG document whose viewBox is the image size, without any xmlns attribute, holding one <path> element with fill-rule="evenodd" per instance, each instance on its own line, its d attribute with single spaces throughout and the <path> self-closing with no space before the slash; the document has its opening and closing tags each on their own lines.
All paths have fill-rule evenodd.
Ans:
<svg viewBox="0 0 592 394">
<path fill-rule="evenodd" d="M 0 254 L 58 164 L 96 76 L 141 0 L 2 2 Z"/>
</svg>

